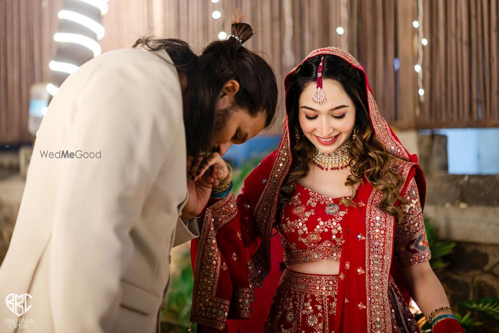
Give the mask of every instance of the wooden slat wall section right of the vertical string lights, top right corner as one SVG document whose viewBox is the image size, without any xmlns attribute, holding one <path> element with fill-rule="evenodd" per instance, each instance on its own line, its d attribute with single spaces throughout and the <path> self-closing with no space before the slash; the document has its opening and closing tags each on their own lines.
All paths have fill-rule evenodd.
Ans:
<svg viewBox="0 0 499 333">
<path fill-rule="evenodd" d="M 418 128 L 499 126 L 498 0 L 424 0 Z"/>
</svg>

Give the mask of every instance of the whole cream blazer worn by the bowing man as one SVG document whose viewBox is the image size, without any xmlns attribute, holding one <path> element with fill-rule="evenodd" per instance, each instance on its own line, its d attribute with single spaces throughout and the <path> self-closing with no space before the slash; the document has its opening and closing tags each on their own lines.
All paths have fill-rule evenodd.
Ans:
<svg viewBox="0 0 499 333">
<path fill-rule="evenodd" d="M 0 267 L 0 332 L 159 332 L 170 249 L 199 235 L 179 219 L 186 143 L 168 62 L 107 52 L 51 101 Z"/>
</svg>

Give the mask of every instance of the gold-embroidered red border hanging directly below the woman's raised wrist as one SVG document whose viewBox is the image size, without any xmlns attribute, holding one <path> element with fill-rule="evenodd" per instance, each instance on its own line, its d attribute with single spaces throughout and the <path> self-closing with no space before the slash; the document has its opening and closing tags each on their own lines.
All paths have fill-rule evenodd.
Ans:
<svg viewBox="0 0 499 333">
<path fill-rule="evenodd" d="M 230 301 L 216 297 L 220 276 L 222 256 L 217 246 L 217 230 L 225 223 L 236 217 L 238 211 L 234 194 L 218 201 L 206 210 L 203 228 L 199 237 L 196 256 L 196 271 L 194 274 L 194 293 L 192 295 L 191 322 L 223 330 L 229 314 Z M 247 294 L 240 291 L 240 294 Z M 251 293 L 250 293 L 251 294 Z M 252 294 L 251 294 L 252 295 Z M 243 314 L 249 315 L 250 298 L 248 295 L 248 309 L 242 309 Z"/>
</svg>

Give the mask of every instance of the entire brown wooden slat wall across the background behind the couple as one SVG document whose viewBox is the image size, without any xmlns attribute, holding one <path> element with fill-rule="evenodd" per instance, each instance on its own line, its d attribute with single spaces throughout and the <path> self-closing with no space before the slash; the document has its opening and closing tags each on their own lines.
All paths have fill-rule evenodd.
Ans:
<svg viewBox="0 0 499 333">
<path fill-rule="evenodd" d="M 255 30 L 246 47 L 261 52 L 279 84 L 312 49 L 341 46 L 364 65 L 378 107 L 394 127 L 499 126 L 498 1 L 423 0 L 424 102 L 414 71 L 417 0 L 109 0 L 101 46 L 129 47 L 154 34 L 185 39 L 199 52 L 219 31 L 230 32 L 228 18 L 239 8 Z M 0 0 L 0 144 L 31 139 L 29 87 L 51 78 L 61 4 Z M 213 10 L 222 18 L 213 19 Z M 284 113 L 282 91 L 278 112 Z M 271 131 L 280 128 L 277 122 Z"/>
</svg>

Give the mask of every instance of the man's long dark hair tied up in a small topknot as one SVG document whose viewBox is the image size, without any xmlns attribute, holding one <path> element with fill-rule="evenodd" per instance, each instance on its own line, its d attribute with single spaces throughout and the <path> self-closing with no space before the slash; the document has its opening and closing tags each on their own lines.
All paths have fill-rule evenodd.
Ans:
<svg viewBox="0 0 499 333">
<path fill-rule="evenodd" d="M 200 56 L 185 41 L 174 38 L 142 37 L 133 45 L 149 51 L 167 51 L 179 73 L 187 78 L 183 99 L 188 156 L 212 151 L 214 132 L 221 130 L 215 128 L 217 101 L 230 80 L 234 79 L 240 85 L 235 96 L 237 106 L 247 109 L 251 116 L 265 112 L 265 127 L 274 117 L 277 104 L 275 75 L 265 60 L 243 46 L 253 30 L 250 24 L 240 22 L 241 16 L 236 20 L 231 28 L 232 37 L 211 42 Z"/>
</svg>

